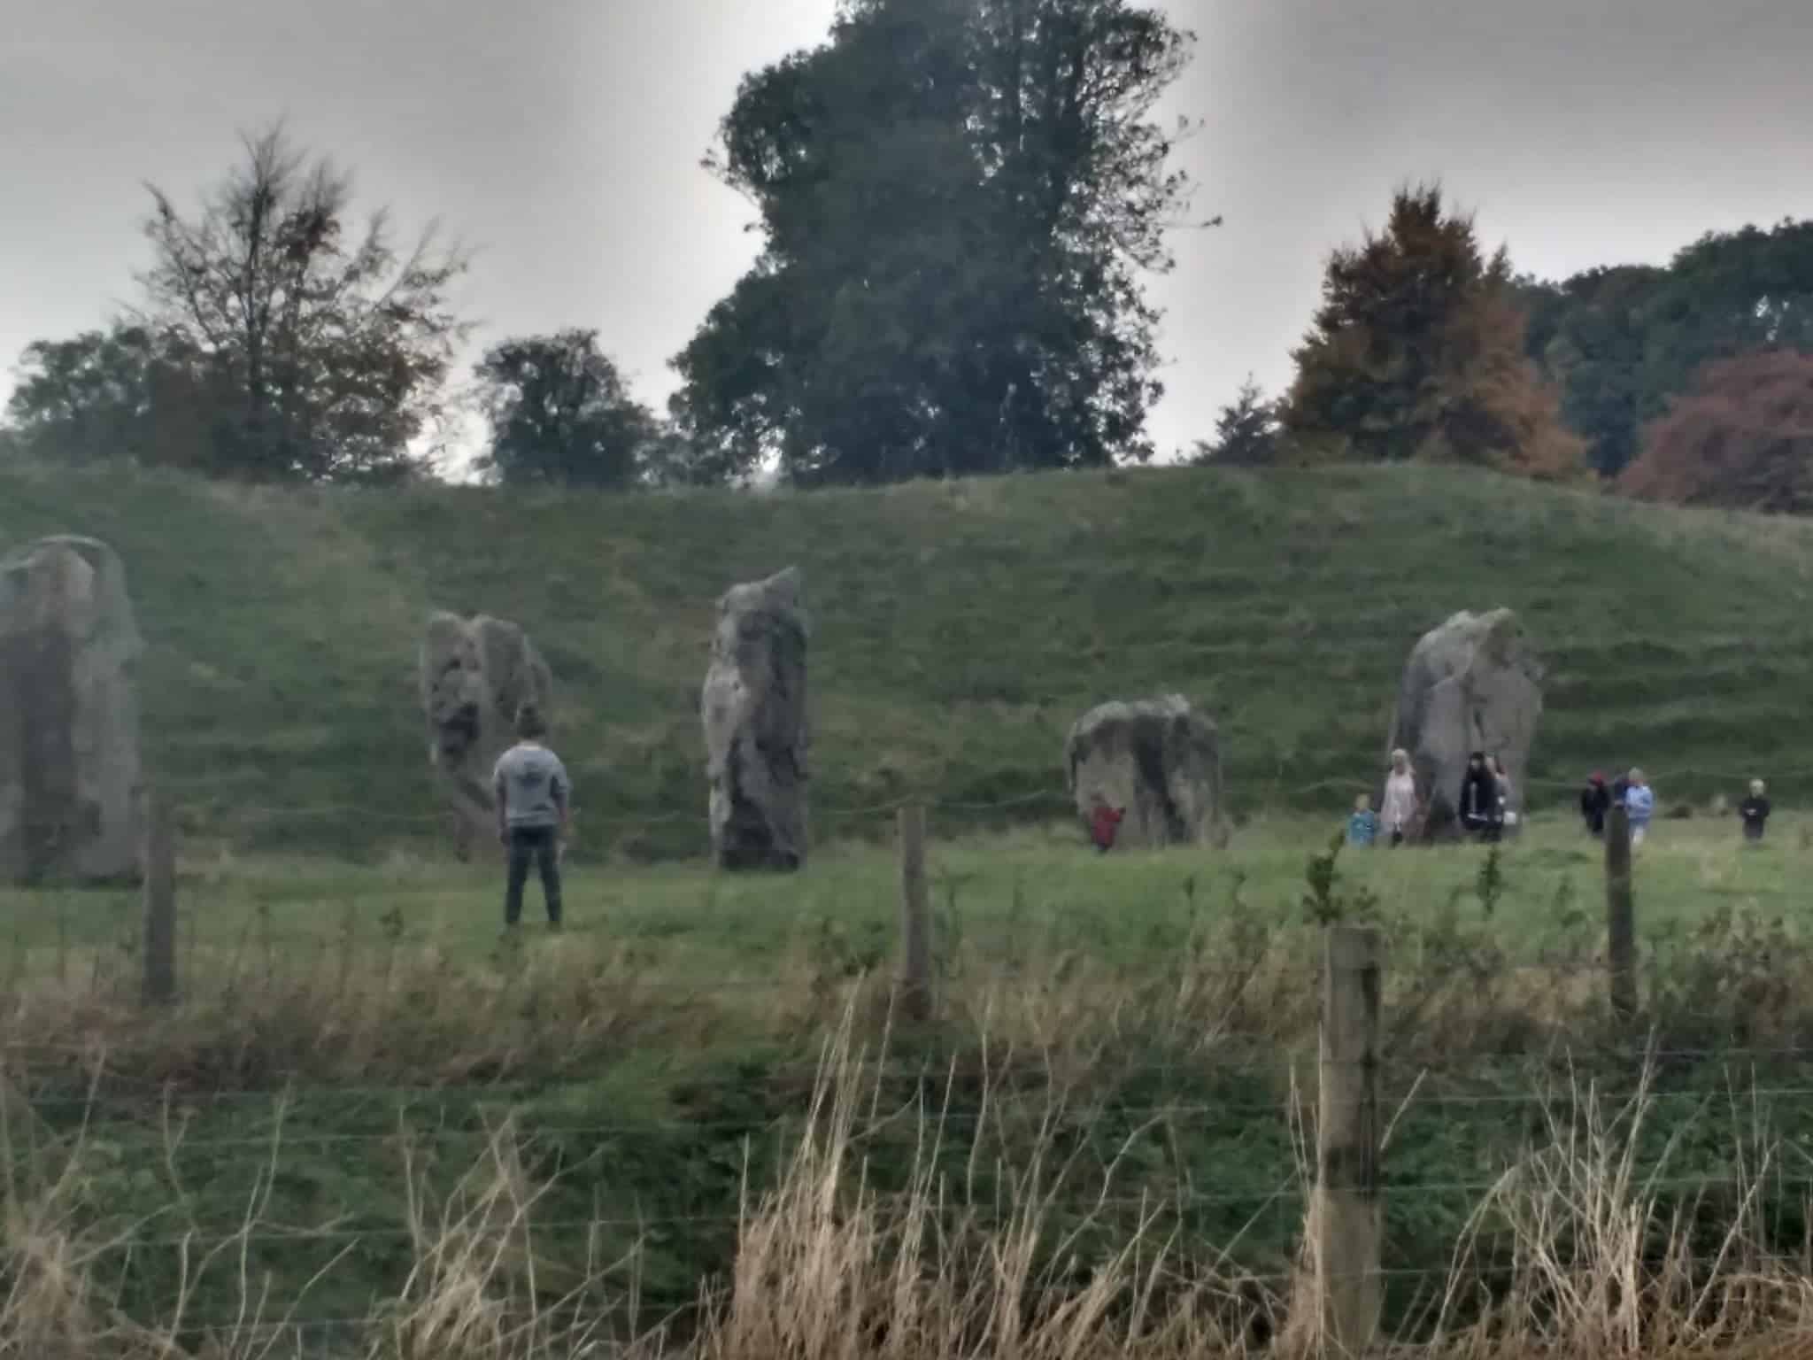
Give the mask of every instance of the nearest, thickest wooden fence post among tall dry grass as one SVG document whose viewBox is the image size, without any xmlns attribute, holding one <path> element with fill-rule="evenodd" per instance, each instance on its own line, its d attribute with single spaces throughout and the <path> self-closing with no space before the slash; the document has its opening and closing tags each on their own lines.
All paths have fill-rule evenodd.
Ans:
<svg viewBox="0 0 1813 1360">
<path fill-rule="evenodd" d="M 1309 1249 L 1322 1353 L 1333 1356 L 1365 1353 L 1383 1311 L 1380 1139 L 1385 1126 L 1378 1104 L 1383 983 L 1383 936 L 1372 927 L 1329 927 Z"/>
</svg>

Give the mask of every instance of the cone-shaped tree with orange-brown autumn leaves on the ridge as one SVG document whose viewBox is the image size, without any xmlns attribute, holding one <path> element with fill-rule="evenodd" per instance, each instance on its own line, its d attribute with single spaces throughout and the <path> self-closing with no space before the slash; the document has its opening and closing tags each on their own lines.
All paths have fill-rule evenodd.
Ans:
<svg viewBox="0 0 1813 1360">
<path fill-rule="evenodd" d="M 1383 232 L 1329 256 L 1280 410 L 1293 457 L 1579 475 L 1585 448 L 1523 326 L 1505 250 L 1487 259 L 1440 185 L 1400 189 Z"/>
</svg>

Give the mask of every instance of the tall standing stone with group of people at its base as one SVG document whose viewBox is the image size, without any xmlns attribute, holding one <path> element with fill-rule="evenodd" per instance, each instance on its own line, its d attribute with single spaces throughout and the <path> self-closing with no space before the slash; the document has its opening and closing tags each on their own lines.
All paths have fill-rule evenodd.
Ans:
<svg viewBox="0 0 1813 1360">
<path fill-rule="evenodd" d="M 1385 749 L 1411 754 L 1416 791 L 1429 805 L 1425 838 L 1456 834 L 1461 776 L 1474 751 L 1505 762 L 1510 811 L 1523 811 L 1541 716 L 1543 665 L 1510 609 L 1461 611 L 1418 640 Z"/>
</svg>

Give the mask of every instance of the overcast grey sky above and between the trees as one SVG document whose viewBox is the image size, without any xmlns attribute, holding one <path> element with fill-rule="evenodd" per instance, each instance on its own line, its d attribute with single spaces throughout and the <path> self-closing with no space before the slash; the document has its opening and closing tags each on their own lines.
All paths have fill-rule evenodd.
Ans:
<svg viewBox="0 0 1813 1360">
<path fill-rule="evenodd" d="M 1289 377 L 1331 245 L 1441 176 L 1545 276 L 1813 218 L 1813 0 L 1164 0 L 1202 216 L 1151 281 L 1162 452 Z M 834 0 L 0 0 L 0 374 L 132 296 L 152 180 L 189 201 L 285 118 L 399 225 L 479 248 L 500 334 L 596 326 L 638 393 L 756 250 L 700 167 L 738 76 Z M 0 375 L 0 392 L 9 379 Z"/>
</svg>

